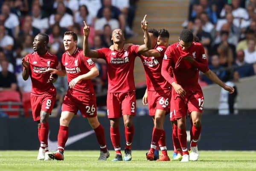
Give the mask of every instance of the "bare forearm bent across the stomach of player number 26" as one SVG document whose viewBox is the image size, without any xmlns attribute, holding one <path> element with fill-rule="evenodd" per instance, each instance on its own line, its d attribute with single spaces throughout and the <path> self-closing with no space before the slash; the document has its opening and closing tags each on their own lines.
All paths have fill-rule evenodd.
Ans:
<svg viewBox="0 0 256 171">
<path fill-rule="evenodd" d="M 74 78 L 73 80 L 71 80 L 68 86 L 69 86 L 70 88 L 74 88 L 75 85 L 76 85 L 79 81 L 85 80 L 85 79 L 95 78 L 96 76 L 99 76 L 99 70 L 98 70 L 98 68 L 97 68 L 96 66 L 94 66 L 94 67 L 92 67 L 92 68 L 90 69 L 90 71 L 89 71 L 88 73 L 85 73 L 85 74 L 83 74 L 83 75 L 80 75 L 80 76 Z"/>
</svg>

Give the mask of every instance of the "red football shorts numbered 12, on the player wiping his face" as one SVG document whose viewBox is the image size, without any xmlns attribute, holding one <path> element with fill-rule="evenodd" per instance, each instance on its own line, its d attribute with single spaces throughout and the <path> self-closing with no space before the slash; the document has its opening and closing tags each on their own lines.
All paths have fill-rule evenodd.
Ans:
<svg viewBox="0 0 256 171">
<path fill-rule="evenodd" d="M 172 89 L 171 114 L 170 120 L 175 121 L 191 112 L 203 112 L 204 95 L 199 85 L 194 87 L 183 87 L 186 91 L 185 97 L 182 97 Z"/>
</svg>

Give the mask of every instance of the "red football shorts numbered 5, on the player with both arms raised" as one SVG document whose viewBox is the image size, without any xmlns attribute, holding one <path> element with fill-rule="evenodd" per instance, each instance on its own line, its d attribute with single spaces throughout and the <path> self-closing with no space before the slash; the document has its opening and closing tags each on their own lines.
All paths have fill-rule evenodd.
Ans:
<svg viewBox="0 0 256 171">
<path fill-rule="evenodd" d="M 122 115 L 136 115 L 135 92 L 108 93 L 108 118 L 120 118 Z"/>
</svg>

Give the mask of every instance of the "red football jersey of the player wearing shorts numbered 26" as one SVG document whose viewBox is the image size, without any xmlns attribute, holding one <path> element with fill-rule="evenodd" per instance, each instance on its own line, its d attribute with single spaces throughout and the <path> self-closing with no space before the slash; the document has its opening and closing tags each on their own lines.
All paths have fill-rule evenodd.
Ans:
<svg viewBox="0 0 256 171">
<path fill-rule="evenodd" d="M 68 83 L 74 78 L 86 74 L 90 71 L 95 64 L 91 58 L 84 56 L 81 49 L 69 55 L 68 52 L 62 54 L 61 69 L 66 70 Z M 94 93 L 93 84 L 91 79 L 79 81 L 73 89 L 69 88 L 68 94 L 73 96 L 83 96 L 84 93 Z"/>
</svg>

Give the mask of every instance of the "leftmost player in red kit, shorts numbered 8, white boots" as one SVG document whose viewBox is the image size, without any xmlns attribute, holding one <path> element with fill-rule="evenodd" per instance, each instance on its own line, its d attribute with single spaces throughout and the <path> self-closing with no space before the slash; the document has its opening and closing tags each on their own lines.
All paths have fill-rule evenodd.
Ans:
<svg viewBox="0 0 256 171">
<path fill-rule="evenodd" d="M 44 73 L 47 68 L 57 68 L 57 56 L 47 51 L 49 36 L 40 33 L 35 36 L 33 49 L 35 52 L 29 53 L 22 58 L 22 77 L 27 80 L 30 76 L 32 82 L 31 106 L 34 121 L 38 123 L 38 139 L 41 143 L 38 153 L 38 160 L 50 160 L 48 157 L 48 117 L 52 112 L 55 103 L 56 90 L 53 82 L 57 76 Z"/>
</svg>

